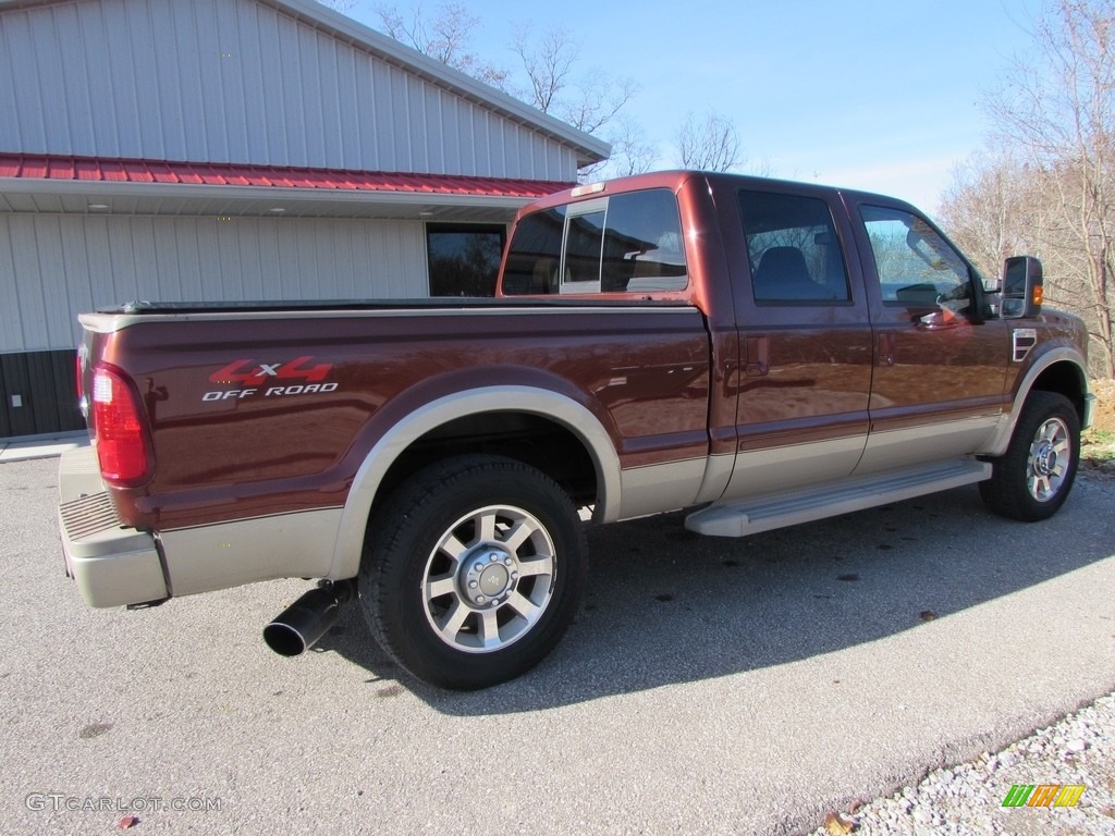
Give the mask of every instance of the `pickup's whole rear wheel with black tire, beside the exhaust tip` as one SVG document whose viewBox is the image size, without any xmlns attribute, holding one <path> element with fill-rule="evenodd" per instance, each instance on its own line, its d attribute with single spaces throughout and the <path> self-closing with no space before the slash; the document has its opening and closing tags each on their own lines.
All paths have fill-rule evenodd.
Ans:
<svg viewBox="0 0 1115 836">
<path fill-rule="evenodd" d="M 454 457 L 411 476 L 374 514 L 360 605 L 415 677 L 487 688 L 558 644 L 580 605 L 585 553 L 576 509 L 544 474 L 496 456 Z"/>
</svg>

